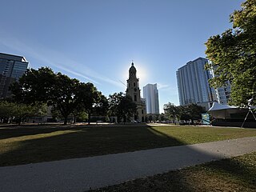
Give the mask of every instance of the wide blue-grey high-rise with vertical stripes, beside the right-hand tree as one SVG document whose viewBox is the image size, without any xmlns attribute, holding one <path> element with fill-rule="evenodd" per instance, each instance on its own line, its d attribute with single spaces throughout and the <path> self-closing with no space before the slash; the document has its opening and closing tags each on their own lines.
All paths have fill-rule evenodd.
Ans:
<svg viewBox="0 0 256 192">
<path fill-rule="evenodd" d="M 208 110 L 211 103 L 217 101 L 216 92 L 208 83 L 213 74 L 210 70 L 205 70 L 206 62 L 206 58 L 197 58 L 187 62 L 176 72 L 181 106 L 196 103 Z"/>
</svg>

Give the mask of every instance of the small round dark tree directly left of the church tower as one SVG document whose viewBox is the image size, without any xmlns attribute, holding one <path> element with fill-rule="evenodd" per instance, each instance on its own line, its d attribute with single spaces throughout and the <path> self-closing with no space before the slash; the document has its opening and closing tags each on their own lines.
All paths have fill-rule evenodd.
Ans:
<svg viewBox="0 0 256 192">
<path fill-rule="evenodd" d="M 133 102 L 133 99 L 124 95 L 122 92 L 110 95 L 109 98 L 110 114 L 118 117 L 118 122 L 121 118 L 123 122 L 126 122 L 127 118 L 137 112 L 137 106 Z"/>
</svg>

